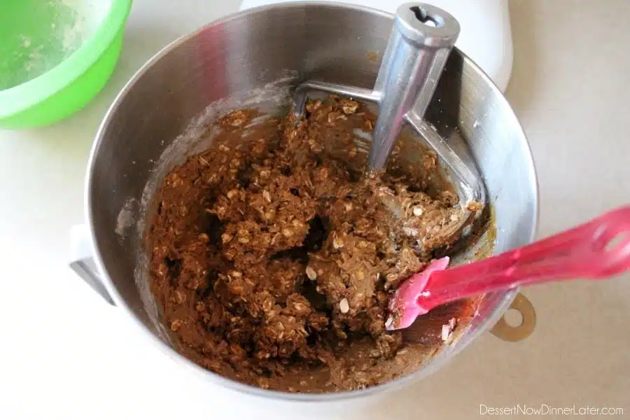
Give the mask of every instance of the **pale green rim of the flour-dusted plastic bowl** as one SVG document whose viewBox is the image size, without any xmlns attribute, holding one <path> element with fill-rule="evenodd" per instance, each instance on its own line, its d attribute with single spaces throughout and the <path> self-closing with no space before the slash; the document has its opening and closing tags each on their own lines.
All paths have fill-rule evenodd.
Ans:
<svg viewBox="0 0 630 420">
<path fill-rule="evenodd" d="M 43 102 L 80 77 L 101 57 L 124 27 L 133 0 L 113 0 L 96 33 L 68 58 L 25 83 L 0 90 L 0 120 Z"/>
</svg>

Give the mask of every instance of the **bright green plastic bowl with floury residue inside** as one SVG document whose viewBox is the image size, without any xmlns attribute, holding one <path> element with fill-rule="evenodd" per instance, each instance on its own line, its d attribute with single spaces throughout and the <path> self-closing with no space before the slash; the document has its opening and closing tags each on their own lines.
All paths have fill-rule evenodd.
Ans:
<svg viewBox="0 0 630 420">
<path fill-rule="evenodd" d="M 50 125 L 102 90 L 132 0 L 0 0 L 0 127 Z"/>
</svg>

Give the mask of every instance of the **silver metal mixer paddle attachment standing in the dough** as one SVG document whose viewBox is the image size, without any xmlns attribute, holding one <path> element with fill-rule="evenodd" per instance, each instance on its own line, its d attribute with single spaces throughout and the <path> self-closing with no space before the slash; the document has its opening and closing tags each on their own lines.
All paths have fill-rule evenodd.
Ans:
<svg viewBox="0 0 630 420">
<path fill-rule="evenodd" d="M 450 181 L 460 197 L 464 214 L 460 228 L 464 228 L 479 216 L 480 209 L 486 204 L 485 186 L 476 170 L 468 167 L 423 120 L 458 35 L 457 20 L 444 10 L 424 3 L 404 3 L 396 11 L 372 90 L 307 80 L 295 90 L 294 110 L 297 116 L 302 115 L 307 93 L 311 91 L 377 103 L 379 114 L 367 159 L 368 169 L 374 171 L 385 167 L 402 127 L 409 124 L 449 169 Z M 470 206 L 472 202 L 481 205 Z M 388 204 L 395 210 L 397 204 Z"/>
</svg>

